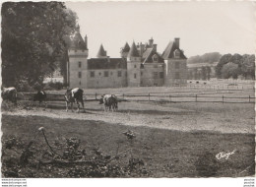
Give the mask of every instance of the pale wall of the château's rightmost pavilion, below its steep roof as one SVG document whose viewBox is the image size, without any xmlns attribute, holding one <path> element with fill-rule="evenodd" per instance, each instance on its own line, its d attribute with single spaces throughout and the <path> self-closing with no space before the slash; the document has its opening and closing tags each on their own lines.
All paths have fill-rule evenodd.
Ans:
<svg viewBox="0 0 256 187">
<path fill-rule="evenodd" d="M 187 85 L 187 63 L 186 59 L 164 60 L 164 86 L 186 86 Z M 179 64 L 178 66 L 176 64 Z"/>
</svg>

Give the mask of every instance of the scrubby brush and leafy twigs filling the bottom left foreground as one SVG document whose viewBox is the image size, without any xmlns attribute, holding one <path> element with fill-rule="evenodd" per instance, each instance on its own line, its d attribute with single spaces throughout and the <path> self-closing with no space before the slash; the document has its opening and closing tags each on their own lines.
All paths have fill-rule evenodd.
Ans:
<svg viewBox="0 0 256 187">
<path fill-rule="evenodd" d="M 147 176 L 148 171 L 143 167 L 145 162 L 138 157 L 130 157 L 127 162 L 117 156 L 108 156 L 95 152 L 87 156 L 85 149 L 81 149 L 81 141 L 75 137 L 66 139 L 65 149 L 59 141 L 55 145 L 60 147 L 63 155 L 54 155 L 43 148 L 32 147 L 16 137 L 11 137 L 3 144 L 3 167 L 5 177 L 38 177 L 40 174 L 58 172 L 61 177 L 129 177 Z M 96 149 L 98 150 L 98 149 Z M 11 157 L 7 153 L 14 153 Z M 22 171 L 22 172 L 21 172 Z M 49 175 L 47 175 L 49 176 Z"/>
</svg>

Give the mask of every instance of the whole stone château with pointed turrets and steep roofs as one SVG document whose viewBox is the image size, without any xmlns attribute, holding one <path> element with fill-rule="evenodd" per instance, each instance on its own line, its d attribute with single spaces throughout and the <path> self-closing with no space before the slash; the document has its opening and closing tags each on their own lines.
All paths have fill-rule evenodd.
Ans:
<svg viewBox="0 0 256 187">
<path fill-rule="evenodd" d="M 88 38 L 76 32 L 68 51 L 67 82 L 75 88 L 186 86 L 187 58 L 179 38 L 170 41 L 160 55 L 157 44 L 126 42 L 120 58 L 110 58 L 101 44 L 96 58 L 88 59 Z"/>
</svg>

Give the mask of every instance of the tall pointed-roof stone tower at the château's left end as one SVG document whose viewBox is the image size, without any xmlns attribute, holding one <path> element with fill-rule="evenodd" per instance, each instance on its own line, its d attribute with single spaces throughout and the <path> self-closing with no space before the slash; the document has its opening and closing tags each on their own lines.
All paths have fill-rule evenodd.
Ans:
<svg viewBox="0 0 256 187">
<path fill-rule="evenodd" d="M 87 88 L 88 70 L 88 46 L 87 36 L 85 40 L 79 32 L 71 36 L 71 45 L 68 50 L 69 61 L 67 63 L 67 77 L 70 88 Z"/>
</svg>

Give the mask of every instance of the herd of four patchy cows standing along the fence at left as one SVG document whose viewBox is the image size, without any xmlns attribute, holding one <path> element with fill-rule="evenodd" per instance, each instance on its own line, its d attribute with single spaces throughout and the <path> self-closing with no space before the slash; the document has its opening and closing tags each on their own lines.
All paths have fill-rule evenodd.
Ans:
<svg viewBox="0 0 256 187">
<path fill-rule="evenodd" d="M 15 104 L 17 104 L 17 90 L 14 87 L 11 88 L 3 88 L 2 89 L 2 98 L 3 100 L 9 100 Z M 71 110 L 73 111 L 73 103 L 76 102 L 78 106 L 78 111 L 80 111 L 80 103 L 82 104 L 83 110 L 84 108 L 84 99 L 83 99 L 84 91 L 80 88 L 75 89 L 67 89 L 64 94 L 65 102 L 66 102 L 66 111 L 69 109 L 69 104 L 71 105 Z M 46 107 L 47 105 L 47 95 L 44 91 L 38 91 L 36 94 L 32 95 L 33 101 L 39 101 L 39 104 L 44 102 Z M 118 99 L 114 94 L 102 94 L 99 99 L 99 104 L 104 104 L 104 111 L 116 111 L 118 109 Z"/>
</svg>

